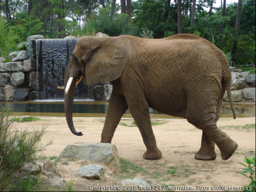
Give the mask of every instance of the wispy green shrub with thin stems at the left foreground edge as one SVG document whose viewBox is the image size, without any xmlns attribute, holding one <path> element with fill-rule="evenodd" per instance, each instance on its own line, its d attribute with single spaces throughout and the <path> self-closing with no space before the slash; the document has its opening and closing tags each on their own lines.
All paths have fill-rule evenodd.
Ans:
<svg viewBox="0 0 256 192">
<path fill-rule="evenodd" d="M 0 191 L 5 191 L 14 182 L 16 173 L 52 142 L 40 143 L 47 126 L 33 131 L 18 131 L 9 121 L 11 107 L 0 108 Z"/>
</svg>

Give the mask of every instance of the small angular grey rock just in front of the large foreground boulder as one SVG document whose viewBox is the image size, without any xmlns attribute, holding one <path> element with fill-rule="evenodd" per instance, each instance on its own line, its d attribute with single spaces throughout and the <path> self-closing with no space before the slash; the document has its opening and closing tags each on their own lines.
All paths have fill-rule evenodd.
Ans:
<svg viewBox="0 0 256 192">
<path fill-rule="evenodd" d="M 78 171 L 77 175 L 87 179 L 102 180 L 105 178 L 105 168 L 101 165 L 85 165 Z"/>
</svg>

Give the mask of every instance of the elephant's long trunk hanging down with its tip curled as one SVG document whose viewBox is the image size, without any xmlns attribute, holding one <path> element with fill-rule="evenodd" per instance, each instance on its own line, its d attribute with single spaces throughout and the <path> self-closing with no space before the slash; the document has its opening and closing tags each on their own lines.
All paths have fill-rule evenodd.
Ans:
<svg viewBox="0 0 256 192">
<path fill-rule="evenodd" d="M 75 84 L 76 84 L 76 80 L 73 80 L 69 91 L 67 93 L 65 93 L 64 98 L 64 104 L 65 104 L 65 115 L 66 115 L 66 120 L 67 123 L 69 125 L 69 129 L 70 131 L 77 136 L 82 136 L 83 133 L 82 132 L 77 132 L 75 130 L 74 127 L 74 123 L 73 123 L 73 117 L 72 117 L 72 112 L 73 112 L 73 101 L 74 101 L 74 96 L 75 96 Z M 65 87 L 67 86 L 67 83 L 65 83 Z"/>
</svg>

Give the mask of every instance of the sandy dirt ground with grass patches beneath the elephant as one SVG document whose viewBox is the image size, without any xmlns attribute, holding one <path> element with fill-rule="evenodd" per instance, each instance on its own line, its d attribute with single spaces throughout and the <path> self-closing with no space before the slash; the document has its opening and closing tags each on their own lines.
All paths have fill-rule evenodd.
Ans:
<svg viewBox="0 0 256 192">
<path fill-rule="evenodd" d="M 43 151 L 43 155 L 45 157 L 58 157 L 68 144 L 98 143 L 101 140 L 104 118 L 74 117 L 73 119 L 76 130 L 84 133 L 84 136 L 73 135 L 69 131 L 65 117 L 40 117 L 40 120 L 36 122 L 15 122 L 13 127 L 18 129 L 42 128 L 43 124 L 48 123 L 47 133 L 43 136 L 42 142 L 53 140 L 53 145 L 48 146 Z M 237 171 L 244 168 L 238 162 L 243 162 L 245 156 L 255 156 L 255 121 L 255 117 L 237 118 L 236 120 L 220 118 L 218 126 L 239 145 L 235 154 L 226 161 L 221 159 L 217 146 L 216 160 L 194 159 L 195 153 L 200 148 L 202 131 L 185 119 L 160 119 L 159 122 L 166 123 L 153 126 L 157 146 L 163 154 L 160 160 L 143 159 L 142 156 L 146 148 L 138 127 L 118 125 L 112 144 L 117 146 L 120 158 L 131 162 L 135 165 L 135 169 L 130 167 L 123 172 L 113 170 L 113 175 L 107 175 L 103 181 L 95 181 L 78 178 L 75 172 L 70 171 L 79 170 L 83 165 L 89 164 L 85 160 L 62 159 L 58 162 L 57 168 L 66 181 L 74 182 L 75 189 L 78 191 L 88 191 L 89 186 L 118 186 L 123 179 L 133 179 L 135 176 L 140 176 L 147 181 L 153 179 L 154 182 L 150 180 L 148 181 L 149 184 L 161 185 L 162 191 L 166 191 L 168 186 L 192 187 L 193 191 L 216 191 L 212 190 L 211 187 L 224 186 L 226 188 L 222 188 L 220 191 L 232 191 L 228 187 L 241 187 L 250 183 L 248 178 L 238 174 Z M 122 119 L 121 122 L 131 124 L 133 120 Z M 246 124 L 254 125 L 242 127 Z M 64 165 L 63 162 L 65 161 L 69 165 Z M 108 170 L 107 167 L 106 169 Z M 164 186 L 165 189 L 163 189 Z M 197 188 L 196 186 L 209 187 L 209 190 L 207 188 L 200 190 L 200 187 Z M 121 191 L 125 190 L 122 189 Z"/>
</svg>

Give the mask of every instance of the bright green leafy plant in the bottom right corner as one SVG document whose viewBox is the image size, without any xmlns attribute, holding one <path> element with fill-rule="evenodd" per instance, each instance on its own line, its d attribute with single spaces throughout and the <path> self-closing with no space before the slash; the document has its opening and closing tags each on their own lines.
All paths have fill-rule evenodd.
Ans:
<svg viewBox="0 0 256 192">
<path fill-rule="evenodd" d="M 244 163 L 240 163 L 241 165 L 244 165 L 246 168 L 243 169 L 243 171 L 240 171 L 238 173 L 240 173 L 241 175 L 249 178 L 251 180 L 250 184 L 247 185 L 246 187 L 248 187 L 248 189 L 244 190 L 244 192 L 255 192 L 255 157 L 251 158 L 247 158 L 245 157 L 245 159 L 243 159 Z"/>
</svg>

